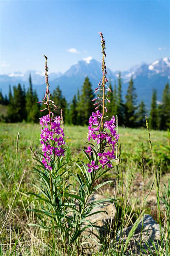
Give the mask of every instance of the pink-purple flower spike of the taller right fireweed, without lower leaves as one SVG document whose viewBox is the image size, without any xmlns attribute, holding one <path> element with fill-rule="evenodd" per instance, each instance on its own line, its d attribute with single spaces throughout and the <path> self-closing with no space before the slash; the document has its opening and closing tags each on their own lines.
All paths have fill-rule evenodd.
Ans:
<svg viewBox="0 0 170 256">
<path fill-rule="evenodd" d="M 99 32 L 101 37 L 101 53 L 103 54 L 102 58 L 102 64 L 101 64 L 101 70 L 103 73 L 103 76 L 98 84 L 98 87 L 95 88 L 95 93 L 97 91 L 102 92 L 102 96 L 98 96 L 97 98 L 93 99 L 92 101 L 94 103 L 96 112 L 93 112 L 92 115 L 89 118 L 89 132 L 88 132 L 88 140 L 91 139 L 95 142 L 97 146 L 97 153 L 98 158 L 94 162 L 94 160 L 91 161 L 91 163 L 88 163 L 88 172 L 92 172 L 95 170 L 98 170 L 100 166 L 104 168 L 107 166 L 108 168 L 112 167 L 111 160 L 115 159 L 115 144 L 118 142 L 119 134 L 116 133 L 115 130 L 115 117 L 112 116 L 110 121 L 105 121 L 105 113 L 107 112 L 106 103 L 110 103 L 110 100 L 108 99 L 108 91 L 110 91 L 110 88 L 106 85 L 108 82 L 107 80 L 107 71 L 106 71 L 106 65 L 105 65 L 105 40 L 103 37 L 103 33 Z M 97 110 L 101 106 L 102 113 L 100 113 L 99 110 Z M 109 150 L 108 150 L 109 149 Z M 91 159 L 93 158 L 94 149 L 90 146 L 86 150 L 86 153 L 88 153 L 91 156 Z"/>
</svg>

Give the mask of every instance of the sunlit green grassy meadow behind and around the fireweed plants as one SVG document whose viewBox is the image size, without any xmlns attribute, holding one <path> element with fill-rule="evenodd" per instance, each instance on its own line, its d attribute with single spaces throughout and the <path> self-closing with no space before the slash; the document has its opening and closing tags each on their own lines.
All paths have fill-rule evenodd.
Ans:
<svg viewBox="0 0 170 256">
<path fill-rule="evenodd" d="M 37 230 L 28 227 L 28 223 L 35 220 L 36 216 L 30 214 L 29 210 L 32 205 L 37 204 L 27 192 L 32 191 L 32 184 L 35 184 L 36 177 L 31 172 L 33 167 L 32 156 L 30 153 L 31 147 L 33 152 L 39 150 L 39 135 L 41 127 L 38 124 L 0 124 L 0 226 L 8 213 L 14 198 L 17 184 L 20 181 L 24 170 L 26 170 L 19 192 L 16 195 L 13 209 L 7 220 L 6 227 L 1 237 L 2 244 L 10 244 L 10 250 L 13 251 L 14 245 L 13 237 L 18 241 L 28 241 L 30 232 L 32 232 L 31 243 L 34 239 L 41 239 L 42 234 L 37 233 Z M 65 126 L 66 144 L 69 150 L 66 153 L 68 161 L 76 160 L 77 157 L 82 158 L 80 148 L 87 147 L 85 141 L 88 127 L 81 126 Z M 18 151 L 16 153 L 16 138 L 19 132 Z M 123 179 L 126 189 L 127 180 L 131 172 L 134 172 L 131 189 L 129 191 L 129 212 L 131 212 L 132 221 L 136 220 L 138 214 L 142 209 L 142 171 L 141 171 L 141 156 L 144 158 L 145 169 L 145 189 L 149 192 L 151 184 L 154 180 L 152 156 L 148 144 L 148 135 L 146 129 L 129 129 L 118 128 L 121 143 L 121 157 Z M 167 131 L 151 131 L 151 141 L 155 157 L 155 165 L 158 168 L 159 160 L 161 159 L 161 181 L 160 190 L 162 191 L 163 184 L 167 184 L 167 179 L 170 177 L 170 138 Z M 75 165 L 70 161 L 70 170 L 76 172 Z M 109 178 L 115 178 L 114 171 L 110 171 Z M 106 176 L 107 179 L 107 176 Z M 107 186 L 103 191 L 105 194 L 112 193 L 112 187 Z M 155 205 L 156 194 L 155 189 L 150 193 L 146 201 L 146 213 L 151 214 L 157 220 L 157 208 Z M 163 206 L 162 206 L 163 207 Z M 163 221 L 163 213 L 162 213 Z M 11 228 L 12 227 L 12 228 Z M 12 231 L 11 231 L 12 230 Z M 44 233 L 43 233 L 44 236 Z M 36 240 L 37 241 L 37 240 Z M 20 242 L 21 243 L 21 242 Z M 37 253 L 35 249 L 38 247 L 38 242 L 32 244 L 32 250 Z M 33 247 L 35 247 L 33 249 Z M 29 252 L 29 247 L 27 248 Z M 27 249 L 25 255 L 27 254 Z M 23 250 L 23 249 L 22 249 Z M 11 254 L 13 255 L 13 254 Z M 21 254 L 24 255 L 24 254 Z"/>
</svg>

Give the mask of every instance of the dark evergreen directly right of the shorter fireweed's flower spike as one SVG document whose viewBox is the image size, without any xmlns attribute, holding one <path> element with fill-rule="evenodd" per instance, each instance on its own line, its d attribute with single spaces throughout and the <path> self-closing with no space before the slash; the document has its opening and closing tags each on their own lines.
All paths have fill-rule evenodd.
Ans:
<svg viewBox="0 0 170 256">
<path fill-rule="evenodd" d="M 54 113 L 57 116 L 61 115 L 61 109 L 63 113 L 63 120 L 65 122 L 65 114 L 67 109 L 67 101 L 65 97 L 62 95 L 62 91 L 60 89 L 60 86 L 57 86 L 57 88 L 53 91 L 53 94 L 51 95 L 51 100 L 55 102 L 55 105 L 57 106 L 57 110 L 54 111 Z"/>
</svg>

